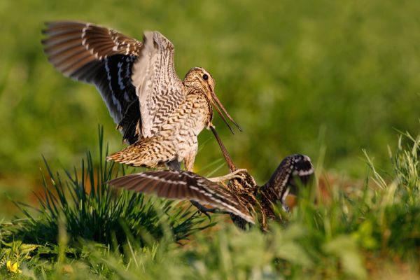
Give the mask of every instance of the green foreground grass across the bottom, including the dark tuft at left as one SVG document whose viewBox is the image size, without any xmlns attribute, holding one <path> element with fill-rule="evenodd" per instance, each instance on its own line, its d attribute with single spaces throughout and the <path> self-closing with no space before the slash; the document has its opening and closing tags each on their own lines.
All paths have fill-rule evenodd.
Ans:
<svg viewBox="0 0 420 280">
<path fill-rule="evenodd" d="M 197 230 L 204 218 L 191 216 L 188 210 L 171 216 L 170 212 L 178 213 L 174 204 L 163 202 L 152 207 L 157 200 L 137 201 L 139 195 L 126 191 L 113 197 L 112 204 L 104 200 L 111 191 L 101 187 L 102 183 L 89 193 L 85 185 L 69 176 L 66 195 L 64 184 L 45 185 L 49 199 L 41 199 L 38 219 L 27 215 L 27 219 L 1 224 L 0 271 L 21 279 L 415 277 L 420 275 L 420 137 L 403 135 L 390 155 L 393 172 L 389 174 L 378 172 L 366 155 L 369 174 L 361 186 L 344 190 L 340 183 L 334 183 L 326 187 L 329 196 L 321 195 L 316 186 L 305 189 L 286 223 L 271 223 L 268 233 L 258 228 L 243 232 L 223 221 L 210 231 Z M 111 170 L 104 166 L 95 174 L 94 169 L 87 168 L 87 177 L 98 176 L 103 182 L 113 178 Z M 50 196 L 51 189 L 58 192 L 57 201 Z M 139 205 L 131 207 L 129 197 Z M 79 200 L 90 203 L 93 211 L 83 210 Z M 110 219 L 117 204 L 144 217 L 146 223 L 124 212 L 118 213 L 125 222 L 124 230 L 118 223 L 92 223 L 94 218 Z M 80 224 L 73 221 L 75 218 L 80 219 L 84 230 L 77 228 Z M 180 239 L 176 226 L 186 223 L 190 226 L 181 226 L 181 239 L 188 235 L 190 241 L 180 246 L 176 244 Z M 43 232 L 34 231 L 38 225 L 45 226 Z M 45 239 L 49 231 L 53 233 Z M 31 238 L 24 232 L 30 232 Z M 105 235 L 111 238 L 85 232 L 111 232 Z M 22 273 L 8 272 L 8 260 L 18 262 Z"/>
</svg>

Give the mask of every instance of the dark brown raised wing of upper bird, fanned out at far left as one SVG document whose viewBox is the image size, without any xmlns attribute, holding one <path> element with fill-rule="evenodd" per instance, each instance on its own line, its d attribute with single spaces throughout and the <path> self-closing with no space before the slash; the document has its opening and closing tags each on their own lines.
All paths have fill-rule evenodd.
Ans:
<svg viewBox="0 0 420 280">
<path fill-rule="evenodd" d="M 139 138 L 139 99 L 132 66 L 143 43 L 87 22 L 50 22 L 42 43 L 48 60 L 65 76 L 96 85 L 130 143 Z"/>
</svg>

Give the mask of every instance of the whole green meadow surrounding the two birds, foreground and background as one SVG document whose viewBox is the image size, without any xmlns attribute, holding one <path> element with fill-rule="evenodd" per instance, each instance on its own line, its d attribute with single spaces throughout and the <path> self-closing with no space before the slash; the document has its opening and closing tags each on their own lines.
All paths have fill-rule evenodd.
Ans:
<svg viewBox="0 0 420 280">
<path fill-rule="evenodd" d="M 420 279 L 419 1 L 0 2 L 0 278 Z M 44 22 L 174 43 L 244 132 L 214 124 L 265 183 L 292 153 L 313 186 L 271 232 L 118 192 L 121 135 L 92 85 L 62 76 Z M 99 133 L 98 133 L 98 127 Z M 99 140 L 98 140 L 99 134 Z M 228 172 L 211 132 L 195 172 Z M 139 170 L 139 169 L 137 169 Z"/>
</svg>

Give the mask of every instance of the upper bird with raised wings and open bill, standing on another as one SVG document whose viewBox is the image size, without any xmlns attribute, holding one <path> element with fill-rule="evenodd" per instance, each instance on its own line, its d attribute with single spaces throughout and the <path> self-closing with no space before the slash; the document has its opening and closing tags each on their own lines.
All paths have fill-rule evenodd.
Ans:
<svg viewBox="0 0 420 280">
<path fill-rule="evenodd" d="M 159 31 L 144 31 L 138 41 L 89 22 L 48 22 L 44 52 L 64 76 L 97 87 L 123 141 L 109 155 L 134 167 L 193 171 L 197 135 L 214 127 L 212 105 L 230 127 L 241 131 L 214 92 L 215 80 L 193 67 L 181 80 L 174 68 L 174 45 Z"/>
</svg>

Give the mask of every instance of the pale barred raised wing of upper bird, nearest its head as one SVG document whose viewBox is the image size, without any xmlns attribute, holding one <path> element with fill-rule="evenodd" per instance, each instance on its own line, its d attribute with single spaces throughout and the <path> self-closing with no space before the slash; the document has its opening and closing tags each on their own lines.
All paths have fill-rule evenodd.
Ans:
<svg viewBox="0 0 420 280">
<path fill-rule="evenodd" d="M 174 45 L 158 31 L 144 32 L 144 50 L 133 66 L 140 100 L 141 132 L 152 137 L 186 98 L 174 68 Z"/>
</svg>

